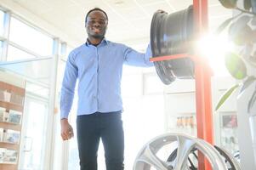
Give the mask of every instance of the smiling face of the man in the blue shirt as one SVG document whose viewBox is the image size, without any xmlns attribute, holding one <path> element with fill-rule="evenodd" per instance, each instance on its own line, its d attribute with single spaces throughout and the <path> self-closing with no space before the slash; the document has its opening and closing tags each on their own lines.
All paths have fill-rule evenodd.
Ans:
<svg viewBox="0 0 256 170">
<path fill-rule="evenodd" d="M 102 39 L 105 36 L 105 31 L 107 27 L 107 20 L 105 14 L 98 10 L 91 12 L 90 14 L 88 14 L 85 26 L 88 37 Z"/>
</svg>

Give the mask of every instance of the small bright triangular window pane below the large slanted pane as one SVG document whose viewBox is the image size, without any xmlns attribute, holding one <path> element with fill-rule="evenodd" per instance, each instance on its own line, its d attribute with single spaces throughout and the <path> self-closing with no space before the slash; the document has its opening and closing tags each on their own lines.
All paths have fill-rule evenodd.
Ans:
<svg viewBox="0 0 256 170">
<path fill-rule="evenodd" d="M 8 54 L 7 54 L 8 61 L 20 60 L 20 59 L 35 59 L 35 58 L 36 56 L 32 54 L 28 54 L 19 48 L 15 48 L 14 46 L 9 45 Z"/>
</svg>

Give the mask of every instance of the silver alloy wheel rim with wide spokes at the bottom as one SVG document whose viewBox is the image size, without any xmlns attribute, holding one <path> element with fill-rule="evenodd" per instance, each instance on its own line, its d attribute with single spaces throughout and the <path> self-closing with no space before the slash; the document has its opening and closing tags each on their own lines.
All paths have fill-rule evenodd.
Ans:
<svg viewBox="0 0 256 170">
<path fill-rule="evenodd" d="M 177 156 L 174 157 L 174 160 L 171 158 L 170 160 L 172 161 L 162 161 L 156 156 L 164 145 L 173 142 L 178 143 Z M 227 170 L 223 157 L 219 155 L 218 150 L 215 150 L 211 144 L 202 139 L 179 133 L 163 134 L 145 144 L 134 162 L 134 170 L 151 170 L 151 167 L 157 170 L 188 170 L 190 169 L 188 157 L 193 149 L 200 150 L 208 158 L 214 170 Z M 240 169 L 237 166 L 236 170 Z"/>
</svg>

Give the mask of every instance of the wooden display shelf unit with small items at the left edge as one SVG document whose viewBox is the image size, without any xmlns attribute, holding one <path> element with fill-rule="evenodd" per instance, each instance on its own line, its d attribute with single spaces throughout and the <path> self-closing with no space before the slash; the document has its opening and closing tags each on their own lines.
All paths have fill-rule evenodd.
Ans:
<svg viewBox="0 0 256 170">
<path fill-rule="evenodd" d="M 0 170 L 17 170 L 25 88 L 0 81 Z"/>
</svg>

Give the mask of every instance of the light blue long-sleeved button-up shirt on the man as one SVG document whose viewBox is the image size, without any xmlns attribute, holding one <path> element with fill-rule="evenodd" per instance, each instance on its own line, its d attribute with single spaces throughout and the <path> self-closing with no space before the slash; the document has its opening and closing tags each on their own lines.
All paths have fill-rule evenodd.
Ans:
<svg viewBox="0 0 256 170">
<path fill-rule="evenodd" d="M 60 118 L 67 118 L 71 111 L 77 79 L 77 116 L 97 111 L 122 111 L 122 64 L 152 66 L 150 57 L 150 46 L 142 54 L 105 39 L 96 47 L 86 42 L 72 50 L 66 61 L 62 82 Z"/>
</svg>

